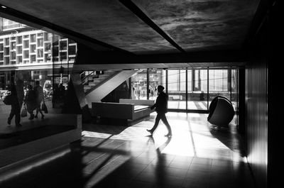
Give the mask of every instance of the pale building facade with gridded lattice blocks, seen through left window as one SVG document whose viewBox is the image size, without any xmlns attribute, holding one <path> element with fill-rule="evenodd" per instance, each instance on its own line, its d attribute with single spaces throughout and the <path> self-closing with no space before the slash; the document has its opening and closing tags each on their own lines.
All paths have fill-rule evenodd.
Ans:
<svg viewBox="0 0 284 188">
<path fill-rule="evenodd" d="M 0 90 L 16 79 L 25 84 L 65 84 L 77 43 L 53 33 L 0 18 Z"/>
</svg>

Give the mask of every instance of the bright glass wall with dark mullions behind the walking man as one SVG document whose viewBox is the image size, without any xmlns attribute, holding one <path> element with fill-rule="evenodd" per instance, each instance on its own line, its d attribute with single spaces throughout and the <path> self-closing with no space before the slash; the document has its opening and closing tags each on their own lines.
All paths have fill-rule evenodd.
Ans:
<svg viewBox="0 0 284 188">
<path fill-rule="evenodd" d="M 168 92 L 168 109 L 208 111 L 216 96 L 224 96 L 237 111 L 238 75 L 236 68 L 140 70 L 131 77 L 132 99 L 156 99 L 161 84 Z"/>
</svg>

